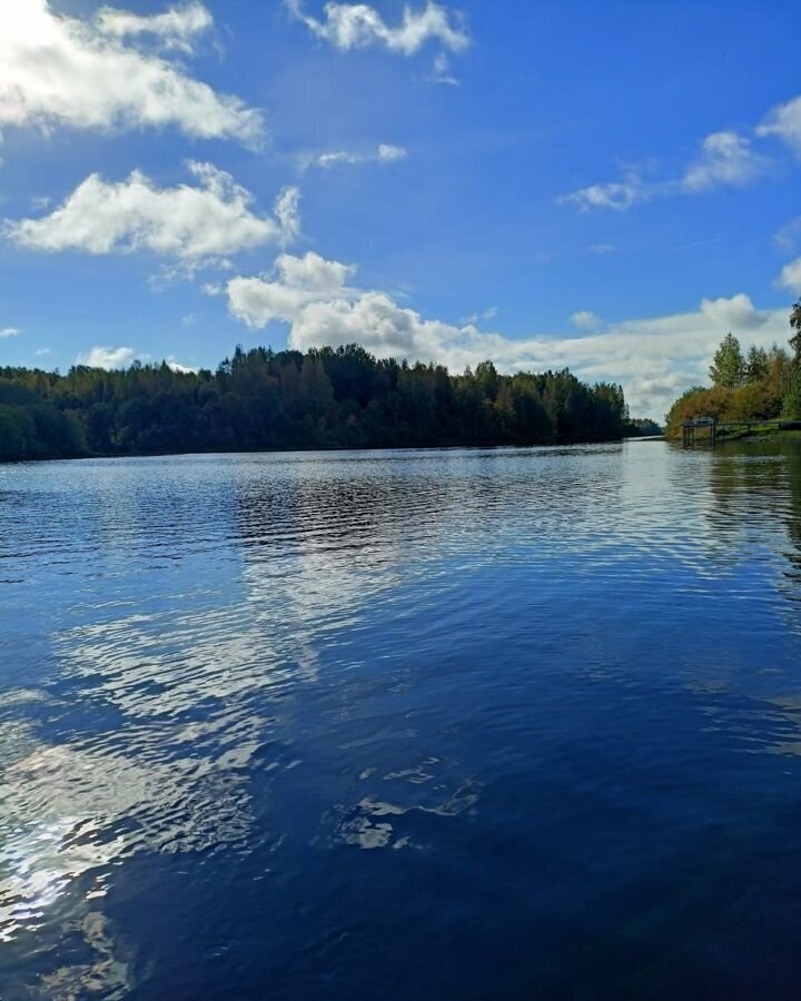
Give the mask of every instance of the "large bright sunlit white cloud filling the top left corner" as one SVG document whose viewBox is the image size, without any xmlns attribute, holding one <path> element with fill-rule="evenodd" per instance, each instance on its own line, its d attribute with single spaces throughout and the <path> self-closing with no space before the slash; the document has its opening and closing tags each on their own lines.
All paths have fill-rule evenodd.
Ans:
<svg viewBox="0 0 801 1001">
<path fill-rule="evenodd" d="M 150 18 L 105 9 L 96 21 L 81 21 L 56 13 L 47 0 L 4 0 L 0 130 L 175 126 L 197 138 L 257 146 L 264 131 L 258 111 L 126 43 L 126 36 L 149 32 L 186 49 L 204 19 L 199 4 Z"/>
</svg>

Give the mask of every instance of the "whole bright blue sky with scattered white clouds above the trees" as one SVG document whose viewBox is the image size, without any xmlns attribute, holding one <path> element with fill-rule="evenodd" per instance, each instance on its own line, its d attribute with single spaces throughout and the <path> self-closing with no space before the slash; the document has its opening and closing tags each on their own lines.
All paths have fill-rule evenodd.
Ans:
<svg viewBox="0 0 801 1001">
<path fill-rule="evenodd" d="M 357 341 L 661 419 L 801 294 L 797 0 L 0 0 L 0 365 Z"/>
</svg>

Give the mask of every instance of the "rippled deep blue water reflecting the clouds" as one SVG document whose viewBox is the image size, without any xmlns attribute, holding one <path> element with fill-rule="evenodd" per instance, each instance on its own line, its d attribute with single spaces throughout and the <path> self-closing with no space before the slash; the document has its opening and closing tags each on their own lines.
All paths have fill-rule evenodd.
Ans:
<svg viewBox="0 0 801 1001">
<path fill-rule="evenodd" d="M 790 999 L 801 450 L 0 466 L 0 997 Z"/>
</svg>

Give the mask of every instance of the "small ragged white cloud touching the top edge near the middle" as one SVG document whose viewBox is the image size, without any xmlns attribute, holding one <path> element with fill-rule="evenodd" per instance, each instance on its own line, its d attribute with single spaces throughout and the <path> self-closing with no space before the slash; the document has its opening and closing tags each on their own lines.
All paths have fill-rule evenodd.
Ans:
<svg viewBox="0 0 801 1001">
<path fill-rule="evenodd" d="M 404 8 L 403 21 L 397 27 L 387 24 L 380 13 L 366 3 L 328 2 L 325 20 L 306 13 L 304 0 L 286 0 L 286 6 L 317 38 L 343 51 L 384 46 L 390 52 L 413 56 L 429 41 L 437 41 L 452 52 L 469 46 L 464 26 L 431 0 L 419 11 Z"/>
</svg>

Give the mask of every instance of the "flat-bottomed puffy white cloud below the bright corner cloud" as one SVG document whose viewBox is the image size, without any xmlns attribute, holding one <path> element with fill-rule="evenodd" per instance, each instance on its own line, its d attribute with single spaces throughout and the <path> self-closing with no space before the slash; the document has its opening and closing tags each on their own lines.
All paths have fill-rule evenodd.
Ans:
<svg viewBox="0 0 801 1001">
<path fill-rule="evenodd" d="M 157 188 L 135 170 L 112 184 L 92 174 L 50 215 L 7 221 L 6 236 L 32 250 L 87 254 L 150 250 L 194 269 L 299 230 L 296 188 L 279 196 L 275 218 L 251 210 L 253 196 L 211 163 L 189 162 L 198 185 Z"/>
</svg>

